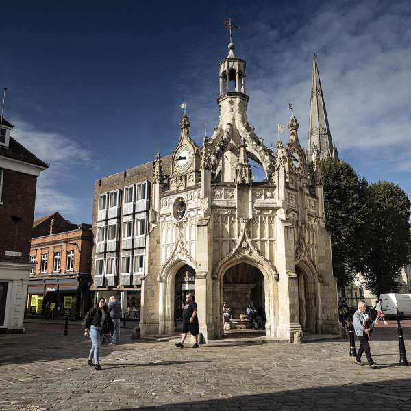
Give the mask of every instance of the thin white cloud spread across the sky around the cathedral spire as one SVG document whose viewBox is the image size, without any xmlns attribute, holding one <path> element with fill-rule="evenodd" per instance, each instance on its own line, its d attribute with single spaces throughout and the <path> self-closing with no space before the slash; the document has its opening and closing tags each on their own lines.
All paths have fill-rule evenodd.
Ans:
<svg viewBox="0 0 411 411">
<path fill-rule="evenodd" d="M 288 121 L 291 102 L 300 123 L 300 141 L 306 145 L 312 53 L 316 52 L 340 157 L 373 167 L 377 178 L 383 178 L 387 168 L 390 173 L 410 173 L 410 3 L 319 3 L 301 22 L 288 10 L 281 24 L 273 18 L 280 12 L 276 7 L 266 3 L 265 8 L 253 8 L 251 14 L 242 15 L 235 39 L 236 55 L 247 60 L 248 116 L 258 135 L 272 145 L 277 123 Z M 292 32 L 287 25 L 294 27 Z M 194 60 L 202 66 L 208 64 L 201 52 Z M 192 107 L 193 134 L 199 135 L 200 121 L 206 116 L 215 122 L 218 115 L 204 110 L 204 101 L 208 106 L 215 101 L 217 70 L 199 76 L 196 86 L 199 89 L 191 90 L 188 104 Z M 393 178 L 398 181 L 403 175 Z"/>
</svg>

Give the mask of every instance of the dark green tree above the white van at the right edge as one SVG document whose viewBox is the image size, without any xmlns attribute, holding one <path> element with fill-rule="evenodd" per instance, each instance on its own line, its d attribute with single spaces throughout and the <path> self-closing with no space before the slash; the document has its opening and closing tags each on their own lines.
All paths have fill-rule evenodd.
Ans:
<svg viewBox="0 0 411 411">
<path fill-rule="evenodd" d="M 395 292 L 399 271 L 411 250 L 410 200 L 399 186 L 377 182 L 368 188 L 369 218 L 362 266 L 365 286 L 375 295 Z"/>
</svg>

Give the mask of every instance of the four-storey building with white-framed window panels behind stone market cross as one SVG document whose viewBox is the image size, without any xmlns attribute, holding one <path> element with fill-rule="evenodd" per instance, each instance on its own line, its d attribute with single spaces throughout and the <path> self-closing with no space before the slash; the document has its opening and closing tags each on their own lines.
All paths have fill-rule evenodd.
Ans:
<svg viewBox="0 0 411 411">
<path fill-rule="evenodd" d="M 171 169 L 170 157 L 162 159 L 165 172 Z M 99 179 L 94 187 L 91 290 L 95 299 L 118 295 L 122 315 L 131 319 L 140 318 L 152 178 L 148 162 Z"/>
</svg>

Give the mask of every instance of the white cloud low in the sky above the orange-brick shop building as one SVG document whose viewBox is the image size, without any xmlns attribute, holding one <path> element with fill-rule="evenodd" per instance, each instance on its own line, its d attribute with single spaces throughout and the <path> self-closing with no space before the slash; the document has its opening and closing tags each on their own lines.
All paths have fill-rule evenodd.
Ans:
<svg viewBox="0 0 411 411">
<path fill-rule="evenodd" d="M 63 182 L 75 178 L 77 167 L 90 162 L 90 151 L 64 134 L 45 132 L 18 118 L 11 119 L 12 136 L 40 160 L 50 163 L 37 182 L 36 216 L 58 211 L 63 216 L 79 212 L 79 199 L 64 192 Z"/>
</svg>

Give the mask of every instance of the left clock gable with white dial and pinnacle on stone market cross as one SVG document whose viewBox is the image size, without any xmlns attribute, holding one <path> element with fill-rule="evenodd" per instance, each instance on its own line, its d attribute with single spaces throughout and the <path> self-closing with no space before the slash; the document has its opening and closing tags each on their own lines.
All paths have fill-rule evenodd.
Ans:
<svg viewBox="0 0 411 411">
<path fill-rule="evenodd" d="M 171 163 L 171 191 L 184 190 L 200 181 L 199 149 L 190 138 L 190 120 L 186 114 L 182 116 L 180 127 L 182 132 Z"/>
</svg>

